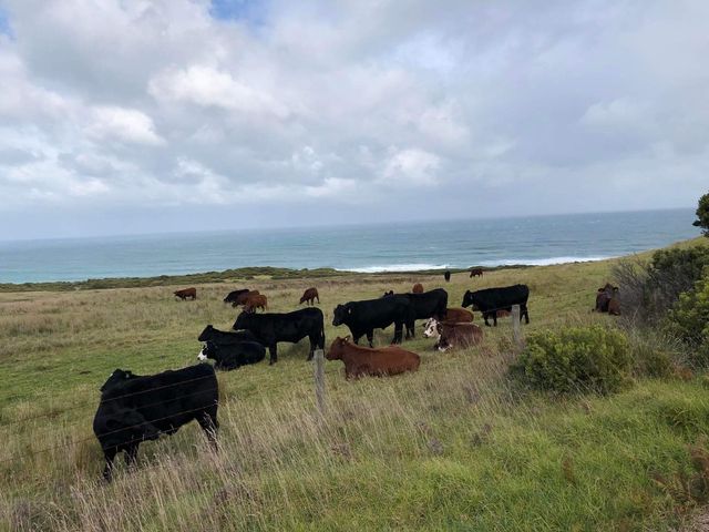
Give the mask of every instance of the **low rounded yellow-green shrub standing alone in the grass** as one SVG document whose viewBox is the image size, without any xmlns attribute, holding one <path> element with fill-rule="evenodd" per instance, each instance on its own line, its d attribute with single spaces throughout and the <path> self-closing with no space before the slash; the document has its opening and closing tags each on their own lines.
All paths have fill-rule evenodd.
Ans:
<svg viewBox="0 0 709 532">
<path fill-rule="evenodd" d="M 531 335 L 511 369 L 516 378 L 533 388 L 562 393 L 608 393 L 628 381 L 630 365 L 625 336 L 593 326 Z"/>
</svg>

